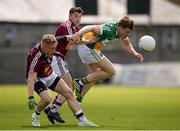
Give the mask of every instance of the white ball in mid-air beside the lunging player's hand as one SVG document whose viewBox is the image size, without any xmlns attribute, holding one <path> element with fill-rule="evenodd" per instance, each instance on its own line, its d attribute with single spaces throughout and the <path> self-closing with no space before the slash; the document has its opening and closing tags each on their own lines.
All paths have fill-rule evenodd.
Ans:
<svg viewBox="0 0 180 131">
<path fill-rule="evenodd" d="M 144 35 L 139 39 L 139 49 L 144 52 L 153 51 L 156 46 L 156 41 L 152 36 Z"/>
</svg>

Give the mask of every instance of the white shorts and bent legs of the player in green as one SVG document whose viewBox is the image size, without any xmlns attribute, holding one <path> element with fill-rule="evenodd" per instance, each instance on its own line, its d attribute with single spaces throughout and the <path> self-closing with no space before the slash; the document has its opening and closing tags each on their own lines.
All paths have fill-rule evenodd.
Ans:
<svg viewBox="0 0 180 131">
<path fill-rule="evenodd" d="M 75 79 L 72 82 L 77 100 L 81 102 L 81 92 L 88 91 L 88 88 L 90 87 L 88 84 L 96 82 L 97 80 L 109 78 L 115 73 L 115 70 L 112 63 L 99 50 L 91 50 L 85 45 L 80 45 L 78 46 L 78 54 L 83 63 L 88 64 L 89 67 L 94 69 L 93 73 L 90 73 L 84 78 Z M 87 85 L 87 88 L 84 89 L 85 85 Z M 87 91 L 85 91 L 86 89 Z"/>
</svg>

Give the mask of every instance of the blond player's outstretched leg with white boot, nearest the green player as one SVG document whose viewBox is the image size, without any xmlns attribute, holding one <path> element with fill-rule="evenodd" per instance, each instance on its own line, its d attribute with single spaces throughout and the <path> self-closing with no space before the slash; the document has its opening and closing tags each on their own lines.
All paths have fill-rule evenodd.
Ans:
<svg viewBox="0 0 180 131">
<path fill-rule="evenodd" d="M 56 78 L 56 80 L 57 80 L 57 78 Z M 56 82 L 56 80 L 55 80 L 55 82 Z M 67 86 L 67 84 L 64 82 L 64 80 L 59 79 L 57 84 L 55 82 L 52 84 L 53 86 L 51 86 L 49 88 L 51 90 L 56 91 L 59 94 L 62 94 L 66 98 L 69 108 L 74 113 L 76 118 L 80 121 L 80 126 L 83 126 L 83 125 L 84 126 L 97 126 L 96 124 L 88 121 L 86 116 L 83 114 L 83 111 L 82 111 L 79 103 L 76 101 L 75 97 L 73 96 L 72 89 Z"/>
</svg>

